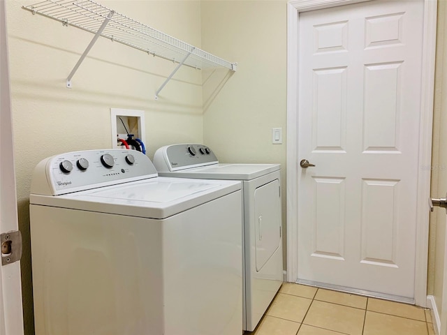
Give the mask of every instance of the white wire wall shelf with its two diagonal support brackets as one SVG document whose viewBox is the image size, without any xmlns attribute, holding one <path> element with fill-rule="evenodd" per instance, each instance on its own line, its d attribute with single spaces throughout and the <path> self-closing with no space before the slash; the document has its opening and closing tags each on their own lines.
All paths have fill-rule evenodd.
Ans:
<svg viewBox="0 0 447 335">
<path fill-rule="evenodd" d="M 223 67 L 235 71 L 237 68 L 237 63 L 226 61 L 200 50 L 198 47 L 164 34 L 92 0 L 44 0 L 34 5 L 22 6 L 22 8 L 29 10 L 33 15 L 39 14 L 57 20 L 64 27 L 71 25 L 94 34 L 78 63 L 75 64 L 66 79 L 66 87 L 68 88 L 72 87 L 73 75 L 75 75 L 99 36 L 177 63 L 177 67 L 156 91 L 155 98 L 158 98 L 163 87 L 182 66 L 189 66 L 198 70 Z"/>
</svg>

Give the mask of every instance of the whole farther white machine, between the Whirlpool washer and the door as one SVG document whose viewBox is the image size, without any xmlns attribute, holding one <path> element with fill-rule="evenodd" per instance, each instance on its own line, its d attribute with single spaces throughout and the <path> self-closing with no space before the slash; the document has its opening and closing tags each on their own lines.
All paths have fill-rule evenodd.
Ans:
<svg viewBox="0 0 447 335">
<path fill-rule="evenodd" d="M 166 177 L 242 182 L 244 210 L 244 330 L 252 332 L 283 282 L 279 164 L 222 164 L 203 144 L 158 149 L 154 165 Z"/>
</svg>

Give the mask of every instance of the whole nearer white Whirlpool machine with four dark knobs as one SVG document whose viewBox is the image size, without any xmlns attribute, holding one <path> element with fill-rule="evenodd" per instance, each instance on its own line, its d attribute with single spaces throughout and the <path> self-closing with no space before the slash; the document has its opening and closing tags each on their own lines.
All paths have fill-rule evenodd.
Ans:
<svg viewBox="0 0 447 335">
<path fill-rule="evenodd" d="M 241 201 L 240 182 L 158 177 L 139 151 L 41 161 L 36 335 L 242 334 Z"/>
</svg>

